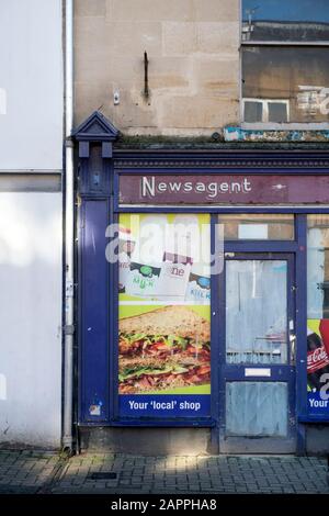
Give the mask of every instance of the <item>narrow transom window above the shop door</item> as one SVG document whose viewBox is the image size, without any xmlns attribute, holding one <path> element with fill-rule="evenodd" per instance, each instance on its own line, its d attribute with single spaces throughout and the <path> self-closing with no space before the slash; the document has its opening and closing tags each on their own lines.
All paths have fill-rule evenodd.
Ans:
<svg viewBox="0 0 329 516">
<path fill-rule="evenodd" d="M 294 215 L 220 215 L 227 240 L 293 240 Z"/>
</svg>

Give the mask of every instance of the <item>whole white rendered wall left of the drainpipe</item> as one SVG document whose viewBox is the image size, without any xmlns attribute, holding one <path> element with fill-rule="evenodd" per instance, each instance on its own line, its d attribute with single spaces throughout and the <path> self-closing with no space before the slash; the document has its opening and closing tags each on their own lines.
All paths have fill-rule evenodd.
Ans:
<svg viewBox="0 0 329 516">
<path fill-rule="evenodd" d="M 60 446 L 61 23 L 0 2 L 0 446 Z"/>
</svg>

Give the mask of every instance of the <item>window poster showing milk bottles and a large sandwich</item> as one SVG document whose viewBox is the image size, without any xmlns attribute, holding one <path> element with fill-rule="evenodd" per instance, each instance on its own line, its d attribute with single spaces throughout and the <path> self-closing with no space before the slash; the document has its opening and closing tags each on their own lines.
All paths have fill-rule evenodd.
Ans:
<svg viewBox="0 0 329 516">
<path fill-rule="evenodd" d="M 211 406 L 207 215 L 120 217 L 123 417 L 206 417 Z"/>
</svg>

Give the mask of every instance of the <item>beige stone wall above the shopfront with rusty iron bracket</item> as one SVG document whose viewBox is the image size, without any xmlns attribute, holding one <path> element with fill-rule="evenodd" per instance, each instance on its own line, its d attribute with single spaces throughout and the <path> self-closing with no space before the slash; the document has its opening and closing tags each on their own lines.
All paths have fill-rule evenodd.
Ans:
<svg viewBox="0 0 329 516">
<path fill-rule="evenodd" d="M 202 135 L 238 122 L 239 0 L 76 0 L 75 9 L 76 124 L 97 109 L 125 134 Z"/>
</svg>

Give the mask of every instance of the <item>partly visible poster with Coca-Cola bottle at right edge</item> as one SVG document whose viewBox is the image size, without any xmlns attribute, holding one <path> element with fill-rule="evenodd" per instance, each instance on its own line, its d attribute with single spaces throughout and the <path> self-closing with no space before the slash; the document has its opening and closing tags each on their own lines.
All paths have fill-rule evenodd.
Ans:
<svg viewBox="0 0 329 516">
<path fill-rule="evenodd" d="M 307 397 L 310 415 L 329 415 L 329 319 L 307 321 Z"/>
</svg>

